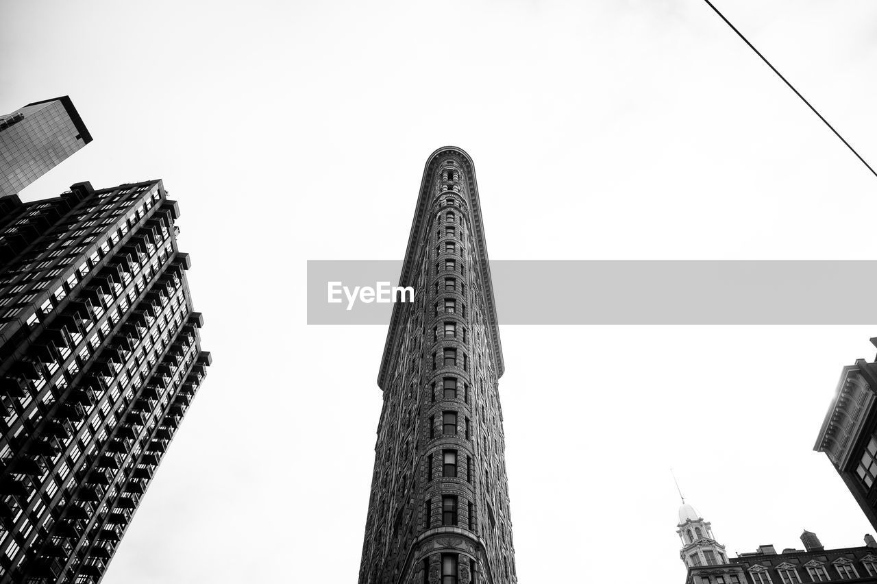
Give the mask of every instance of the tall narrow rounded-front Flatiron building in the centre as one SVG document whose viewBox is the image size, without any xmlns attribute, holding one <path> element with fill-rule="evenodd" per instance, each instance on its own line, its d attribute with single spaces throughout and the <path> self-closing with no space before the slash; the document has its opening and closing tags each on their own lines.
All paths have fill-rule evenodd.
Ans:
<svg viewBox="0 0 877 584">
<path fill-rule="evenodd" d="M 514 584 L 503 353 L 472 159 L 426 161 L 378 386 L 360 584 Z"/>
</svg>

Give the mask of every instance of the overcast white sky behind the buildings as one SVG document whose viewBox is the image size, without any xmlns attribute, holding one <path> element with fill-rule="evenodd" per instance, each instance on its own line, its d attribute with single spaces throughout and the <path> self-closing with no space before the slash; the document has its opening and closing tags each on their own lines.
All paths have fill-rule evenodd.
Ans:
<svg viewBox="0 0 877 584">
<path fill-rule="evenodd" d="M 877 162 L 877 4 L 718 4 Z M 877 260 L 877 178 L 701 0 L 32 0 L 0 52 L 95 139 L 23 198 L 163 178 L 214 356 L 107 584 L 355 581 L 387 329 L 307 326 L 305 260 L 401 259 L 439 146 L 495 260 Z M 522 583 L 681 582 L 671 466 L 731 555 L 870 530 L 811 448 L 873 323 L 501 331 Z"/>
</svg>

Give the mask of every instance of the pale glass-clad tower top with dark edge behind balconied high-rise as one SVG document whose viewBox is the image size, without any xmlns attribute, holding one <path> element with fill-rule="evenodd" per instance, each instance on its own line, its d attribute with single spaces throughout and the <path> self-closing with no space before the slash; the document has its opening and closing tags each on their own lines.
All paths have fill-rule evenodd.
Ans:
<svg viewBox="0 0 877 584">
<path fill-rule="evenodd" d="M 90 141 L 68 96 L 0 116 L 0 196 L 18 193 Z"/>
</svg>

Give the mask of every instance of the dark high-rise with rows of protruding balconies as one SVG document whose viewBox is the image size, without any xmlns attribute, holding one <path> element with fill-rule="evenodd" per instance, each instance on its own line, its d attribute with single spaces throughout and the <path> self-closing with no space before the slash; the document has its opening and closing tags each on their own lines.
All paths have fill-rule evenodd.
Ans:
<svg viewBox="0 0 877 584">
<path fill-rule="evenodd" d="M 97 582 L 210 364 L 160 181 L 0 197 L 0 584 Z"/>
</svg>

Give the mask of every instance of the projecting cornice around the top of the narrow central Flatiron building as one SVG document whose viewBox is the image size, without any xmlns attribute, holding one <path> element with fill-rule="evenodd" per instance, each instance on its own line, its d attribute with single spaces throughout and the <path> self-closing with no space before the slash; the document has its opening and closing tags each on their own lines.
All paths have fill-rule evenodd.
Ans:
<svg viewBox="0 0 877 584">
<path fill-rule="evenodd" d="M 478 183 L 475 181 L 475 168 L 472 158 L 462 149 L 456 146 L 444 146 L 431 153 L 426 160 L 424 166 L 424 176 L 420 182 L 420 194 L 417 196 L 417 210 L 414 213 L 414 220 L 411 222 L 411 231 L 408 236 L 408 248 L 405 251 L 405 259 L 402 266 L 402 274 L 399 276 L 399 286 L 410 286 L 412 275 L 414 274 L 414 255 L 420 246 L 421 240 L 428 237 L 425 232 L 424 225 L 427 220 L 427 212 L 430 210 L 431 203 L 431 184 L 432 176 L 435 173 L 439 162 L 446 160 L 448 157 L 457 160 L 460 166 L 466 172 L 467 187 L 469 193 L 469 205 L 472 210 L 472 222 L 475 245 L 478 247 L 478 266 L 481 272 L 481 282 L 484 287 L 484 299 L 486 317 L 488 319 L 488 331 L 493 342 L 493 355 L 496 366 L 496 378 L 503 376 L 505 371 L 505 363 L 503 361 L 503 345 L 499 338 L 499 323 L 496 318 L 496 302 L 493 294 L 493 281 L 490 277 L 490 262 L 488 260 L 488 248 L 484 239 L 484 224 L 481 219 L 481 202 L 478 197 Z M 387 340 L 384 343 L 383 357 L 381 358 L 381 369 L 378 372 L 378 386 L 384 389 L 387 381 L 387 368 L 391 358 L 393 348 L 393 338 L 396 337 L 396 331 L 399 321 L 402 318 L 404 307 L 399 303 L 393 304 L 393 316 L 390 317 L 389 331 L 387 331 Z"/>
</svg>

